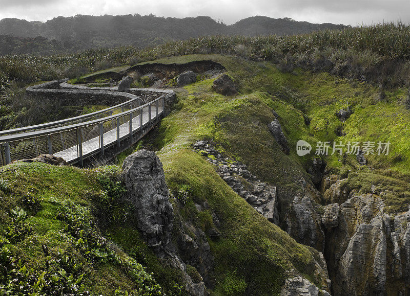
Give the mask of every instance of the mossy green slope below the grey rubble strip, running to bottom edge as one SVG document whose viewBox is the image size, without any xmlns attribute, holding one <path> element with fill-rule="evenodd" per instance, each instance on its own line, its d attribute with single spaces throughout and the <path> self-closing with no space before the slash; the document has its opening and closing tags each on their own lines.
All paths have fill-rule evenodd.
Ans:
<svg viewBox="0 0 410 296">
<path fill-rule="evenodd" d="M 314 275 L 310 249 L 256 213 L 199 154 L 169 146 L 173 144 L 158 155 L 171 189 L 188 184 L 190 198 L 196 202 L 207 200 L 221 222 L 220 240 L 209 240 L 215 256 L 215 292 L 227 294 L 232 291 L 233 282 L 240 290 L 231 294 L 277 294 L 286 278 L 285 270 L 291 268 L 322 284 Z"/>
</svg>

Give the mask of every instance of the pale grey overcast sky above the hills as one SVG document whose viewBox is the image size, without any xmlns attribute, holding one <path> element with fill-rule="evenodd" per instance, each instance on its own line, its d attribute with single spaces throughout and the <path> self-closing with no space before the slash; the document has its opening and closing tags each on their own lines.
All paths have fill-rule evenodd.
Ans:
<svg viewBox="0 0 410 296">
<path fill-rule="evenodd" d="M 189 17 L 206 15 L 231 25 L 255 15 L 310 22 L 360 25 L 410 22 L 410 0 L 0 0 L 0 19 L 46 21 L 56 16 L 134 14 Z"/>
</svg>

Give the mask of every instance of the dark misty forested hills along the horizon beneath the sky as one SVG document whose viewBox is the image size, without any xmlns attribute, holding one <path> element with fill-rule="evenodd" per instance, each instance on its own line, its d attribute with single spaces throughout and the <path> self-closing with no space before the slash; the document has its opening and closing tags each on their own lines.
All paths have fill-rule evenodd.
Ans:
<svg viewBox="0 0 410 296">
<path fill-rule="evenodd" d="M 343 28 L 343 25 L 311 24 L 290 18 L 275 19 L 266 16 L 245 18 L 230 26 L 208 16 L 165 18 L 152 14 L 59 16 L 46 22 L 4 18 L 0 20 L 0 55 L 47 55 L 130 44 L 144 48 L 169 40 L 204 35 L 292 35 Z M 39 36 L 46 39 L 36 38 Z"/>
</svg>

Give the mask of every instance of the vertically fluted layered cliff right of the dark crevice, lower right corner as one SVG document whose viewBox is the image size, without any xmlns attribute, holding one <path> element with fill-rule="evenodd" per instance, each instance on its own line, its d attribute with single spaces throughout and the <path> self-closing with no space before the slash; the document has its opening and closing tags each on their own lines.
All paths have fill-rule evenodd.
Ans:
<svg viewBox="0 0 410 296">
<path fill-rule="evenodd" d="M 342 200 L 336 181 L 325 196 Z M 335 199 L 330 199 L 335 200 Z M 410 211 L 384 212 L 376 194 L 350 193 L 325 207 L 325 258 L 335 295 L 407 294 L 410 288 Z"/>
</svg>

